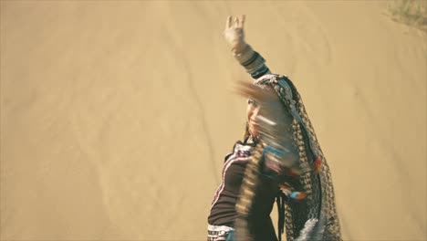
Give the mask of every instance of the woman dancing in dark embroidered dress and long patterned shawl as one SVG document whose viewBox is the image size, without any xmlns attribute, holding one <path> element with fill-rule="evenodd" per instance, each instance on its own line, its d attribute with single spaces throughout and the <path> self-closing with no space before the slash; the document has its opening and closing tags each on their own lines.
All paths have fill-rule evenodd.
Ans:
<svg viewBox="0 0 427 241">
<path fill-rule="evenodd" d="M 239 83 L 248 98 L 243 141 L 225 157 L 222 183 L 208 217 L 208 240 L 341 240 L 333 186 L 323 153 L 293 83 L 273 75 L 245 43 L 245 16 L 229 16 L 224 37 L 255 79 Z"/>
</svg>

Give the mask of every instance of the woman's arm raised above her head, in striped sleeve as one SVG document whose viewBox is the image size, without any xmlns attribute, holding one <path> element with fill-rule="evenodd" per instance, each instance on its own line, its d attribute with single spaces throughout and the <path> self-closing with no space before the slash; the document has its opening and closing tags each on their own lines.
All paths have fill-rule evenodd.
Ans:
<svg viewBox="0 0 427 241">
<path fill-rule="evenodd" d="M 224 37 L 232 46 L 234 58 L 246 69 L 253 79 L 271 74 L 264 59 L 250 45 L 245 42 L 245 16 L 228 16 Z"/>
</svg>

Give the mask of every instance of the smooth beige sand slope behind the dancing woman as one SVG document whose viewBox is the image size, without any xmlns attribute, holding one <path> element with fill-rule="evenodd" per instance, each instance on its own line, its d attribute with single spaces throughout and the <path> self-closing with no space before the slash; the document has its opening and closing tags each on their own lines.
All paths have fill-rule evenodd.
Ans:
<svg viewBox="0 0 427 241">
<path fill-rule="evenodd" d="M 426 240 L 427 40 L 387 4 L 2 1 L 1 240 L 204 240 L 242 13 L 303 95 L 343 237 Z"/>
</svg>

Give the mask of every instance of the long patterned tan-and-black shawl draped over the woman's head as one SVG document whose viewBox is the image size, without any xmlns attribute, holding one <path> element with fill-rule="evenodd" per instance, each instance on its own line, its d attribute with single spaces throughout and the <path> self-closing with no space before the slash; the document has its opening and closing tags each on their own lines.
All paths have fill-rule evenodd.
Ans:
<svg viewBox="0 0 427 241">
<path fill-rule="evenodd" d="M 268 85 L 276 93 L 286 110 L 292 115 L 293 141 L 297 146 L 299 166 L 311 167 L 310 172 L 299 175 L 299 184 L 307 197 L 299 202 L 278 200 L 279 223 L 284 223 L 287 241 L 331 240 L 340 241 L 340 228 L 335 206 L 334 189 L 327 160 L 320 149 L 315 131 L 297 89 L 286 76 L 268 74 L 255 81 L 256 85 Z M 259 163 L 266 144 L 262 139 L 245 170 L 241 194 L 236 204 L 239 214 L 235 221 L 237 240 L 248 240 L 246 217 L 254 200 L 258 180 Z M 279 238 L 283 226 L 279 225 Z"/>
</svg>

